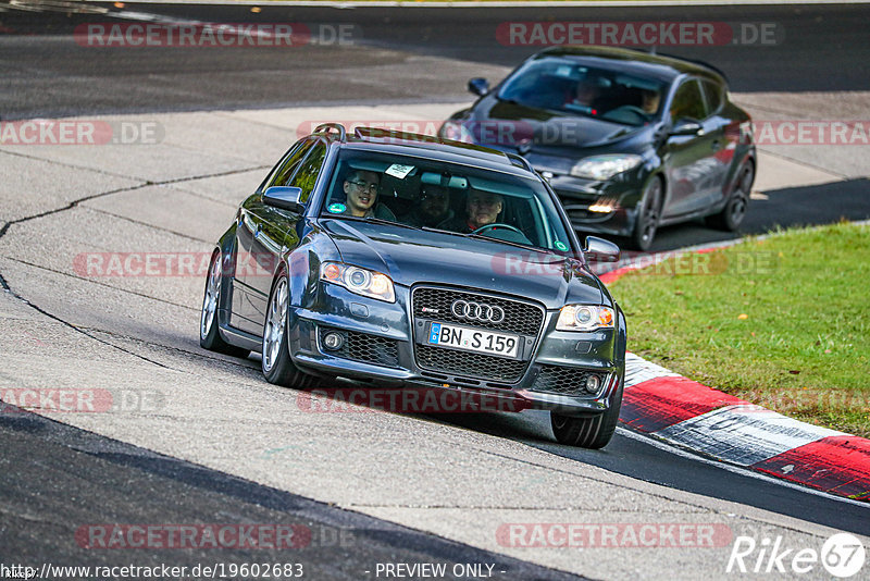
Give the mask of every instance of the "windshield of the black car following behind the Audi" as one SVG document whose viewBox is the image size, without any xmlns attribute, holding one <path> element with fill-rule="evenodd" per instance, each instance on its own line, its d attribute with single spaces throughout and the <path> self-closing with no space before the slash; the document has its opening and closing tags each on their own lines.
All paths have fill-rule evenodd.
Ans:
<svg viewBox="0 0 870 581">
<path fill-rule="evenodd" d="M 550 58 L 529 61 L 505 83 L 498 98 L 637 126 L 659 115 L 663 89 L 655 78 Z"/>
</svg>

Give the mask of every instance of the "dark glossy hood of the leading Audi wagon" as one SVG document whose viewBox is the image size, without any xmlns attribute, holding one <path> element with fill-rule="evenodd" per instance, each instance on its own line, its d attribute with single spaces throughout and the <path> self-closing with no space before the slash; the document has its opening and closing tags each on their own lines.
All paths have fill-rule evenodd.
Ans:
<svg viewBox="0 0 870 581">
<path fill-rule="evenodd" d="M 326 219 L 322 225 L 345 263 L 388 274 L 401 286 L 476 288 L 532 298 L 547 309 L 604 301 L 597 280 L 574 258 L 387 224 Z"/>
</svg>

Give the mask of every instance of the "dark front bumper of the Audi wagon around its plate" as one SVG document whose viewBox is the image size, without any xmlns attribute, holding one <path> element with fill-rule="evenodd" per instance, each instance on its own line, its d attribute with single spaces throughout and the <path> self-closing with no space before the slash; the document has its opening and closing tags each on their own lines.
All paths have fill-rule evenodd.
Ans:
<svg viewBox="0 0 870 581">
<path fill-rule="evenodd" d="M 373 381 L 385 387 L 485 393 L 566 415 L 601 412 L 613 405 L 612 396 L 624 374 L 624 357 L 614 357 L 616 330 L 556 331 L 559 311 L 540 307 L 543 323 L 536 334 L 522 337 L 530 344 L 521 350 L 521 360 L 492 358 L 486 361 L 488 367 L 475 366 L 475 354 L 426 346 L 421 337 L 427 332 L 427 318 L 414 317 L 410 288 L 397 285 L 395 289 L 396 302 L 387 304 L 319 283 L 318 296 L 309 302 L 313 307 L 297 308 L 290 318 L 288 336 L 294 361 L 327 376 Z M 511 300 L 520 301 L 513 297 Z M 328 332 L 344 337 L 340 349 L 324 346 L 323 336 Z M 449 361 L 459 357 L 462 369 L 455 363 L 449 368 L 449 361 L 447 369 L 438 369 L 440 359 L 424 359 L 419 351 L 426 348 L 439 349 L 436 355 L 449 355 Z M 487 357 L 490 356 L 484 356 Z M 499 367 L 501 363 L 505 369 Z M 591 374 L 597 375 L 600 383 L 594 393 L 584 387 Z"/>
</svg>

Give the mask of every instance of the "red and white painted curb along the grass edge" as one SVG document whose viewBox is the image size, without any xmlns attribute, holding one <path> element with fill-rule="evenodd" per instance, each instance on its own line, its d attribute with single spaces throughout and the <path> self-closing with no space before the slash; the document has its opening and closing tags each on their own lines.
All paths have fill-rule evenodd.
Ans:
<svg viewBox="0 0 870 581">
<path fill-rule="evenodd" d="M 635 268 L 600 277 L 609 284 Z M 870 502 L 870 440 L 787 418 L 631 353 L 625 356 L 620 422 L 730 465 Z"/>
</svg>

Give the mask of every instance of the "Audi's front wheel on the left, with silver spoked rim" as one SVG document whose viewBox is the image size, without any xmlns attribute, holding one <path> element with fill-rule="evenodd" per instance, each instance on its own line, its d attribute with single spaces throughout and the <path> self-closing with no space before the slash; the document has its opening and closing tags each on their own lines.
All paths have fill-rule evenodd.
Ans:
<svg viewBox="0 0 870 581">
<path fill-rule="evenodd" d="M 263 322 L 263 376 L 275 385 L 310 390 L 316 386 L 318 378 L 300 370 L 290 358 L 287 339 L 289 305 L 290 282 L 282 269 L 272 283 Z"/>
</svg>

